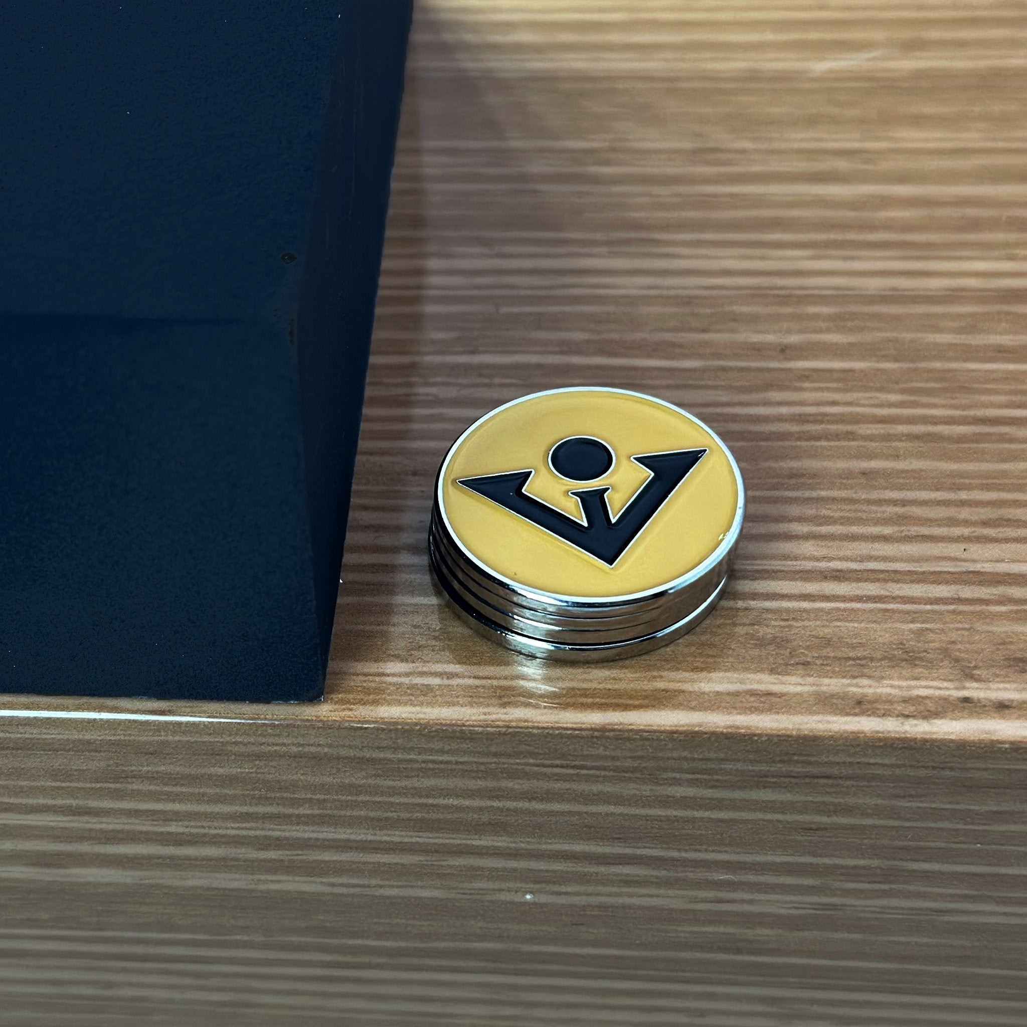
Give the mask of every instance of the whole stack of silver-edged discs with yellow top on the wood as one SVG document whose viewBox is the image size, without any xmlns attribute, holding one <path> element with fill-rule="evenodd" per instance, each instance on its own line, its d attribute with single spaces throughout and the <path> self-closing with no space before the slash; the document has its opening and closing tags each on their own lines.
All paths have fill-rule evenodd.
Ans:
<svg viewBox="0 0 1027 1027">
<path fill-rule="evenodd" d="M 737 464 L 696 418 L 637 392 L 554 389 L 499 407 L 453 445 L 432 569 L 465 617 L 491 611 L 498 641 L 555 643 L 566 625 L 568 645 L 599 631 L 629 646 L 712 607 L 744 510 Z"/>
</svg>

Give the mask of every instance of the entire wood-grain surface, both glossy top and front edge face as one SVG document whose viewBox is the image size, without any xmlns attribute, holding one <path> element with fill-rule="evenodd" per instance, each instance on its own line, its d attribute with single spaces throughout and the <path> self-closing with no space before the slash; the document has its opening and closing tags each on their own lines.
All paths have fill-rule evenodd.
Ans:
<svg viewBox="0 0 1027 1027">
<path fill-rule="evenodd" d="M 4 697 L 0 1027 L 1027 1021 L 1025 36 L 421 0 L 328 700 Z M 429 587 L 432 474 L 588 383 L 733 448 L 736 576 L 519 660 Z"/>
</svg>

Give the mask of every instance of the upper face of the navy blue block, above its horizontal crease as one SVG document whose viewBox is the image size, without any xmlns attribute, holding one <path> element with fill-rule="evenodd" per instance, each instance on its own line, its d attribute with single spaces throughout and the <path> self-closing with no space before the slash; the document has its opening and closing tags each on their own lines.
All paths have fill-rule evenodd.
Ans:
<svg viewBox="0 0 1027 1027">
<path fill-rule="evenodd" d="M 278 257 L 303 243 L 360 4 L 4 4 L 0 310 L 267 312 L 299 273 Z"/>
</svg>

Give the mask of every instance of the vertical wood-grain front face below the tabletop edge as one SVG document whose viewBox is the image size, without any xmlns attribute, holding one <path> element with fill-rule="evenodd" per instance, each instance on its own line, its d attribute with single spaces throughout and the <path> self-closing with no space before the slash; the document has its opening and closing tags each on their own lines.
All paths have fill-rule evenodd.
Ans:
<svg viewBox="0 0 1027 1027">
<path fill-rule="evenodd" d="M 3 1027 L 1017 1027 L 991 745 L 0 724 Z"/>
</svg>

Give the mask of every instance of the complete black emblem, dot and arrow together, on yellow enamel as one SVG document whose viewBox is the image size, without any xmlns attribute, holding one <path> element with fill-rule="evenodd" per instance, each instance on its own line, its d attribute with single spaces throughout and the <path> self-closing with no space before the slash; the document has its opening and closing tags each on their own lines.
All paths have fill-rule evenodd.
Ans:
<svg viewBox="0 0 1027 1027">
<path fill-rule="evenodd" d="M 615 519 L 610 514 L 608 485 L 571 490 L 581 507 L 581 520 L 576 520 L 525 492 L 535 473 L 531 469 L 461 478 L 459 484 L 612 567 L 707 452 L 694 449 L 633 456 L 650 477 Z M 587 435 L 565 439 L 549 451 L 549 466 L 570 482 L 595 482 L 609 473 L 613 464 L 610 447 Z"/>
</svg>

